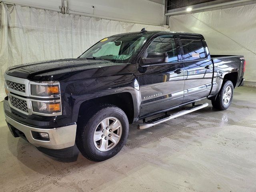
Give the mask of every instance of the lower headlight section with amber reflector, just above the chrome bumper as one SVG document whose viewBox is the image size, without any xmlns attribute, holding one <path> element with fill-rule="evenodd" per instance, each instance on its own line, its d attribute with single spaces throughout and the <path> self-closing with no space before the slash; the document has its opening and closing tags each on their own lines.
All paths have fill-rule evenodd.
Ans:
<svg viewBox="0 0 256 192">
<path fill-rule="evenodd" d="M 55 113 L 60 112 L 60 102 L 37 102 L 32 101 L 33 111 L 39 113 Z"/>
</svg>

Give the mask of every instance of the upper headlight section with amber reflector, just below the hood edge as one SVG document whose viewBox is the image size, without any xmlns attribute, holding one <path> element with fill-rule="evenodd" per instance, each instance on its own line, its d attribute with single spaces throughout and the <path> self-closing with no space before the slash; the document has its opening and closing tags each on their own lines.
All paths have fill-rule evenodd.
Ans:
<svg viewBox="0 0 256 192">
<path fill-rule="evenodd" d="M 31 84 L 31 94 L 37 96 L 50 96 L 60 94 L 58 85 L 35 85 Z"/>
</svg>

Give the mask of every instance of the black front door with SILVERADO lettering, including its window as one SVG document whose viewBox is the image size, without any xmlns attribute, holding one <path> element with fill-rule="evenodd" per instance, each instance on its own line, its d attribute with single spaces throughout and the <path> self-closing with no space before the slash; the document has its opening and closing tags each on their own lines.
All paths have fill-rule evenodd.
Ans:
<svg viewBox="0 0 256 192">
<path fill-rule="evenodd" d="M 184 65 L 179 62 L 180 48 L 174 36 L 156 37 L 146 52 L 168 54 L 168 62 L 148 67 L 139 66 L 141 93 L 140 116 L 182 104 L 184 97 Z"/>
</svg>

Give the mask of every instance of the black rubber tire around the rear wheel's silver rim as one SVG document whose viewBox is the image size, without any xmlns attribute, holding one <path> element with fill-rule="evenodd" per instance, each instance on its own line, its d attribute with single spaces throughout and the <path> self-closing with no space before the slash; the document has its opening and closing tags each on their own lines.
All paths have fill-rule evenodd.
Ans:
<svg viewBox="0 0 256 192">
<path fill-rule="evenodd" d="M 225 104 L 225 94 L 226 94 L 226 89 L 230 87 L 231 88 L 231 98 L 228 103 Z M 218 110 L 226 110 L 233 99 L 233 94 L 234 94 L 234 86 L 233 83 L 230 80 L 224 80 L 222 87 L 220 89 L 220 92 L 218 93 L 216 100 L 212 100 L 212 106 Z"/>
</svg>

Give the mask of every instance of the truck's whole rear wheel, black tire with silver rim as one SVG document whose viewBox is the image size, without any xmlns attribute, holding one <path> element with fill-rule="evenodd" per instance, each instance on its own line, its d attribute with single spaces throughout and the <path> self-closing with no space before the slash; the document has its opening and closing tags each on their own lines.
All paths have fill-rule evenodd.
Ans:
<svg viewBox="0 0 256 192">
<path fill-rule="evenodd" d="M 232 102 L 233 94 L 233 83 L 230 80 L 225 80 L 216 100 L 212 100 L 212 106 L 218 110 L 226 110 Z"/>
</svg>

